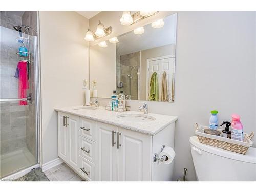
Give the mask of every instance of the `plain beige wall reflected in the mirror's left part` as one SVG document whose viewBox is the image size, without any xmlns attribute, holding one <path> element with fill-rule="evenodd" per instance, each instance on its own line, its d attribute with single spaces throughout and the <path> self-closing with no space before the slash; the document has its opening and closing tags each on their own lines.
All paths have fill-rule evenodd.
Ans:
<svg viewBox="0 0 256 192">
<path fill-rule="evenodd" d="M 116 44 L 90 47 L 90 86 L 94 80 L 98 97 L 110 98 L 116 90 Z"/>
</svg>

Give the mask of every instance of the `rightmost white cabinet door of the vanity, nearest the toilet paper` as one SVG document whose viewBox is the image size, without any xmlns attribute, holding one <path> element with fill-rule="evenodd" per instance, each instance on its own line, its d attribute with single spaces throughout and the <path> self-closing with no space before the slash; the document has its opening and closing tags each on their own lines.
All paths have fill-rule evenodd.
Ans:
<svg viewBox="0 0 256 192">
<path fill-rule="evenodd" d="M 152 136 L 118 127 L 118 181 L 150 181 Z"/>
</svg>

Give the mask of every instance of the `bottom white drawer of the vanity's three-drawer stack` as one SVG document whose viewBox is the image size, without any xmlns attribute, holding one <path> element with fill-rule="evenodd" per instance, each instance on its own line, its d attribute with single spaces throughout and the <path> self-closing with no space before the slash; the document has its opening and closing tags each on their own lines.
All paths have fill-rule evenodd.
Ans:
<svg viewBox="0 0 256 192">
<path fill-rule="evenodd" d="M 95 164 L 79 156 L 79 174 L 87 181 L 95 181 Z"/>
</svg>

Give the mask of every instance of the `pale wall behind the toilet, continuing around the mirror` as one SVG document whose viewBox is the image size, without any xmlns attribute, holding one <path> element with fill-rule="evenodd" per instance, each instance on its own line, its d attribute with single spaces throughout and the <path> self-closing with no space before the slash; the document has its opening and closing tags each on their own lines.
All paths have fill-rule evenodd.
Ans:
<svg viewBox="0 0 256 192">
<path fill-rule="evenodd" d="M 121 12 L 101 12 L 89 22 L 94 29 L 100 19 L 104 25 L 111 25 L 115 34 L 131 30 L 133 25 L 122 26 L 120 17 Z M 174 176 L 182 177 L 186 167 L 187 179 L 196 180 L 189 146 L 189 137 L 195 135 L 195 122 L 207 125 L 210 111 L 217 109 L 219 121 L 230 120 L 231 113 L 238 113 L 244 131 L 256 131 L 256 15 L 178 12 L 177 18 L 175 102 L 146 103 L 150 113 L 179 117 L 175 123 Z M 99 103 L 104 105 L 107 101 L 100 99 Z M 128 104 L 138 111 L 140 102 Z"/>
</svg>

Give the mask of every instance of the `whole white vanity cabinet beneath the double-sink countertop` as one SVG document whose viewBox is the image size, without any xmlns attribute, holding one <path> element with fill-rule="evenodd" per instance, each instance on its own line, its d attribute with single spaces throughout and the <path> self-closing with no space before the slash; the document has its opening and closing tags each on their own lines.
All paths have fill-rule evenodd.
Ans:
<svg viewBox="0 0 256 192">
<path fill-rule="evenodd" d="M 156 135 L 58 112 L 58 155 L 88 181 L 171 181 L 174 163 L 153 161 L 174 148 L 174 123 Z"/>
</svg>

